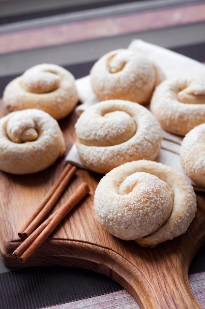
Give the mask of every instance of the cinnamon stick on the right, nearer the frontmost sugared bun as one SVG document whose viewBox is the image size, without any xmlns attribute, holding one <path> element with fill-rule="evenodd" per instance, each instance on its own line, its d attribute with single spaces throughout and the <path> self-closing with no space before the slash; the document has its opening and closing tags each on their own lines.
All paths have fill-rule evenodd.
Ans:
<svg viewBox="0 0 205 309">
<path fill-rule="evenodd" d="M 78 204 L 83 197 L 89 193 L 88 184 L 83 182 L 79 188 L 72 193 L 68 200 L 46 221 L 44 221 L 33 233 L 26 238 L 13 252 L 20 263 L 24 263 L 30 255 L 45 241 L 45 239 L 55 230 L 60 221 L 68 212 Z"/>
</svg>

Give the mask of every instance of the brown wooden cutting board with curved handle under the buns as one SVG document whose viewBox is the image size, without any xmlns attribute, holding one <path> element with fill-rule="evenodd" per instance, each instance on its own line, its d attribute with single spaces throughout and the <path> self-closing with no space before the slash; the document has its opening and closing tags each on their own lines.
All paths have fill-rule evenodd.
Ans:
<svg viewBox="0 0 205 309">
<path fill-rule="evenodd" d="M 1 115 L 3 112 L 1 112 Z M 67 151 L 75 141 L 75 112 L 59 122 Z M 0 172 L 0 255 L 8 267 L 69 266 L 103 273 L 121 284 L 140 308 L 200 308 L 188 280 L 190 263 L 205 243 L 205 195 L 197 194 L 198 210 L 187 232 L 154 249 L 140 247 L 105 232 L 93 214 L 93 194 L 100 175 L 78 169 L 55 210 L 86 181 L 88 197 L 79 203 L 25 264 L 12 252 L 20 244 L 18 232 L 65 164 L 65 157 L 33 175 Z"/>
</svg>

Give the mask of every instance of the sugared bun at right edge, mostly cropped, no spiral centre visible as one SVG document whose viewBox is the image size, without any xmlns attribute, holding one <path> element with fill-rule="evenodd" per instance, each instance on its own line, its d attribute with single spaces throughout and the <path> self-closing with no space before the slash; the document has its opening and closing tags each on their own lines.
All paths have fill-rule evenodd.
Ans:
<svg viewBox="0 0 205 309">
<path fill-rule="evenodd" d="M 186 175 L 205 188 L 205 123 L 196 126 L 183 138 L 180 161 Z"/>
</svg>

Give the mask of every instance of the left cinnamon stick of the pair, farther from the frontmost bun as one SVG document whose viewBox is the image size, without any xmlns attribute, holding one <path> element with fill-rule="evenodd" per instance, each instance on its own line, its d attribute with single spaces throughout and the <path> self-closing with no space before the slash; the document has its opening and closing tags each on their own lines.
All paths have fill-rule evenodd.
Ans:
<svg viewBox="0 0 205 309">
<path fill-rule="evenodd" d="M 30 233 L 33 232 L 36 227 L 43 221 L 43 219 L 48 215 L 48 213 L 56 204 L 62 192 L 65 190 L 67 184 L 72 179 L 76 170 L 76 166 L 72 166 L 70 164 L 67 164 L 64 167 L 62 173 L 59 175 L 54 185 L 51 187 L 42 202 L 39 204 L 39 206 L 29 218 L 27 224 L 20 232 L 18 232 L 20 238 L 28 237 Z"/>
</svg>

